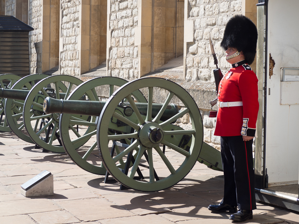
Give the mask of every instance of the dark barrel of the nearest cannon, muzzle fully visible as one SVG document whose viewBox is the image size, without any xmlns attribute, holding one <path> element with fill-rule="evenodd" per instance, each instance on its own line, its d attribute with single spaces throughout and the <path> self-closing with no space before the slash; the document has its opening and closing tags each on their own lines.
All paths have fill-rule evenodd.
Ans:
<svg viewBox="0 0 299 224">
<path fill-rule="evenodd" d="M 43 110 L 46 114 L 50 113 L 71 113 L 71 114 L 81 114 L 81 115 L 91 115 L 100 116 L 100 113 L 106 102 L 104 101 L 80 101 L 80 100 L 63 100 L 63 99 L 53 99 L 46 97 L 44 100 Z M 147 103 L 135 103 L 138 111 L 146 115 L 147 114 Z M 156 116 L 163 104 L 153 103 L 152 104 L 152 116 Z M 124 113 L 126 116 L 132 114 L 132 108 L 130 104 L 124 102 L 121 106 L 125 107 Z M 167 105 L 161 120 L 165 121 L 170 117 L 173 117 L 179 113 L 179 109 L 175 104 Z"/>
</svg>

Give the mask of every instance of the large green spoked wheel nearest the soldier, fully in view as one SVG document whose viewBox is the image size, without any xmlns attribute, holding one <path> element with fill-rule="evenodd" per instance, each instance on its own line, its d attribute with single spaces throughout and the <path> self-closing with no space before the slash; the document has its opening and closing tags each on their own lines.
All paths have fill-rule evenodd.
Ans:
<svg viewBox="0 0 299 224">
<path fill-rule="evenodd" d="M 148 96 L 147 116 L 139 113 L 130 97 L 135 90 L 141 90 Z M 158 97 L 163 99 L 164 104 L 159 113 L 152 118 L 152 103 L 157 102 Z M 128 99 L 135 112 L 136 122 L 133 122 L 134 119 L 130 116 L 118 112 L 118 104 L 124 98 Z M 166 121 L 161 121 L 162 113 L 170 102 L 181 106 L 181 110 Z M 176 123 L 172 124 L 182 116 L 189 116 L 192 124 L 189 130 L 182 129 L 175 125 Z M 108 135 L 112 119 L 122 121 L 133 131 Z M 133 139 L 132 144 L 112 157 L 107 143 L 122 138 Z M 189 140 L 185 142 L 184 139 Z M 123 85 L 105 104 L 97 125 L 97 144 L 104 167 L 122 185 L 138 191 L 160 191 L 178 183 L 196 163 L 202 142 L 202 118 L 196 102 L 184 88 L 161 78 L 141 78 Z M 168 147 L 165 154 L 160 145 Z M 127 155 L 136 148 L 138 152 L 135 161 L 126 161 Z M 175 160 L 169 160 L 167 155 L 171 155 Z M 134 163 L 127 172 L 118 168 L 118 164 L 125 161 L 127 164 Z M 142 178 L 138 171 L 143 173 Z"/>
</svg>

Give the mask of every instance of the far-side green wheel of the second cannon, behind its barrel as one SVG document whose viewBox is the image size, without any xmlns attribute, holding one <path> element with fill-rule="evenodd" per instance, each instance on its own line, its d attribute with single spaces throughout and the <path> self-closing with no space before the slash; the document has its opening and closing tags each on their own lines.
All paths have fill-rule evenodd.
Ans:
<svg viewBox="0 0 299 224">
<path fill-rule="evenodd" d="M 11 89 L 14 90 L 22 90 L 26 88 L 31 90 L 32 87 L 39 82 L 41 79 L 45 79 L 49 75 L 45 74 L 32 74 L 29 76 L 25 76 L 22 79 L 18 80 Z M 25 142 L 34 143 L 30 136 L 28 135 L 23 121 L 23 108 L 24 108 L 24 100 L 16 100 L 16 99 L 6 99 L 5 103 L 5 115 L 7 119 L 7 123 L 9 124 L 10 129 L 13 133 L 22 139 Z M 31 116 L 36 116 L 33 111 Z"/>
</svg>

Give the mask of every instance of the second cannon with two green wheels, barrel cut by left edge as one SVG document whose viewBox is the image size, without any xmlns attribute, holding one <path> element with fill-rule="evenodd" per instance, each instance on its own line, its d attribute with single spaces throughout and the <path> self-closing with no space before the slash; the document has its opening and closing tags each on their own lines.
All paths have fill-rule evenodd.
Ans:
<svg viewBox="0 0 299 224">
<path fill-rule="evenodd" d="M 71 89 L 81 83 L 83 81 L 74 76 L 34 74 L 20 79 L 12 89 L 1 89 L 0 96 L 7 98 L 5 113 L 10 128 L 26 142 L 35 143 L 47 151 L 64 153 L 57 132 L 58 120 L 53 120 L 57 116 L 45 115 L 42 103 L 47 96 L 67 98 Z M 35 91 L 37 88 L 39 90 Z M 80 117 L 89 119 L 89 116 Z"/>
</svg>

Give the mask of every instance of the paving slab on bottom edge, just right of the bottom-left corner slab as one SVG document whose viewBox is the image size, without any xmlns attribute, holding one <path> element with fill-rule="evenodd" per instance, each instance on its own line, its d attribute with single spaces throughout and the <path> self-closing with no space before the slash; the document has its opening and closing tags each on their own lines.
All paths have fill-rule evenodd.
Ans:
<svg viewBox="0 0 299 224">
<path fill-rule="evenodd" d="M 36 222 L 42 224 L 79 223 L 80 220 L 66 211 L 48 211 L 29 214 Z"/>
</svg>

